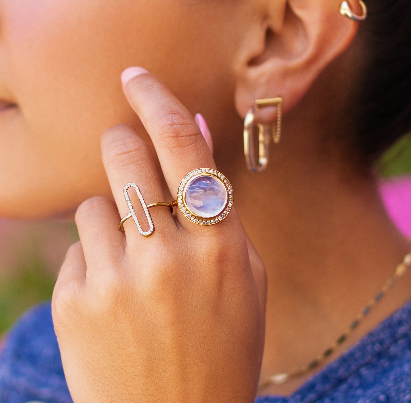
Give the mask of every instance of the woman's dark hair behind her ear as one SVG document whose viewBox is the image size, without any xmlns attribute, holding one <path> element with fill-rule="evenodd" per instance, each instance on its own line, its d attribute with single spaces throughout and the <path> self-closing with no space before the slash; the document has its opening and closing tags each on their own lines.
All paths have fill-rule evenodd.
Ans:
<svg viewBox="0 0 411 403">
<path fill-rule="evenodd" d="M 352 143 L 370 167 L 411 130 L 411 3 L 365 1 L 369 14 L 358 32 L 365 58 Z"/>
</svg>

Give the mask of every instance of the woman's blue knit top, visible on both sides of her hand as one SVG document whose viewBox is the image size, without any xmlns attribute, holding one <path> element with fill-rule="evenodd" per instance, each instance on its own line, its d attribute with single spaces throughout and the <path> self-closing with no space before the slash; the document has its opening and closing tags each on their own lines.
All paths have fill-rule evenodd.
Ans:
<svg viewBox="0 0 411 403">
<path fill-rule="evenodd" d="M 51 320 L 51 305 L 26 312 L 0 356 L 0 403 L 72 403 Z M 257 403 L 411 402 L 411 301 L 386 318 L 289 397 Z"/>
</svg>

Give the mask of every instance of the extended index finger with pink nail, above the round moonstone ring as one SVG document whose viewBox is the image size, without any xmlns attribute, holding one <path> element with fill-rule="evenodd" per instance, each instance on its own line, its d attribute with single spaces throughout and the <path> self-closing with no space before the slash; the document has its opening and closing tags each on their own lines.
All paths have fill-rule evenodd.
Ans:
<svg viewBox="0 0 411 403">
<path fill-rule="evenodd" d="M 131 67 L 121 79 L 127 100 L 150 135 L 173 196 L 192 170 L 216 168 L 192 114 L 156 75 Z"/>
</svg>

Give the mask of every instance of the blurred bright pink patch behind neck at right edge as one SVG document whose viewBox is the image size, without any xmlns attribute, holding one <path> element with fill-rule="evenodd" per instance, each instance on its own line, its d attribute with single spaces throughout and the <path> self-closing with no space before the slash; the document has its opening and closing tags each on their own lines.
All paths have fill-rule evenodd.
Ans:
<svg viewBox="0 0 411 403">
<path fill-rule="evenodd" d="M 404 235 L 411 237 L 411 175 L 384 179 L 380 192 L 391 219 Z"/>
</svg>

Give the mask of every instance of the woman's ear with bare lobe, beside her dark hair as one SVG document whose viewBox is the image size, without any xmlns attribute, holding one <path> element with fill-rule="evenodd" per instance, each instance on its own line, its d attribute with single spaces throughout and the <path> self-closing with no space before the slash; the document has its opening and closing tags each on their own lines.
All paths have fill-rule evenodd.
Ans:
<svg viewBox="0 0 411 403">
<path fill-rule="evenodd" d="M 358 23 L 342 16 L 341 1 L 263 0 L 261 18 L 245 33 L 237 59 L 235 101 L 245 117 L 258 98 L 282 96 L 291 109 L 320 72 L 351 44 Z M 350 0 L 356 10 L 357 0 Z M 265 108 L 262 120 L 273 121 L 275 109 Z"/>
</svg>

